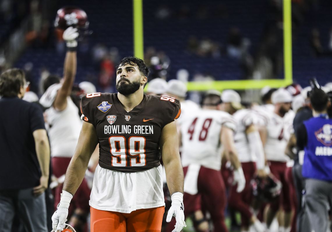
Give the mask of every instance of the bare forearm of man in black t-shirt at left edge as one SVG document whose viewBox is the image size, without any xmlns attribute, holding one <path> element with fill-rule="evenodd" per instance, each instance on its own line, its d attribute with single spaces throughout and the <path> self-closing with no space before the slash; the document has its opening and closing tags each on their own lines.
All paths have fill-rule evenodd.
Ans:
<svg viewBox="0 0 332 232">
<path fill-rule="evenodd" d="M 48 177 L 49 176 L 49 160 L 50 160 L 50 149 L 47 136 L 42 138 L 36 143 L 36 154 L 39 166 L 41 168 L 41 175 Z"/>
</svg>

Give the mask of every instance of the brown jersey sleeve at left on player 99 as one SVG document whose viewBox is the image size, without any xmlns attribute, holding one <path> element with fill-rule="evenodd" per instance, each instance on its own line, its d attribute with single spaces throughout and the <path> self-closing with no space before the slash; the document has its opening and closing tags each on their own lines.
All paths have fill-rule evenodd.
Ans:
<svg viewBox="0 0 332 232">
<path fill-rule="evenodd" d="M 101 93 L 86 94 L 81 99 L 81 119 L 94 124 L 94 110 L 96 108 L 96 103 L 99 100 Z"/>
</svg>

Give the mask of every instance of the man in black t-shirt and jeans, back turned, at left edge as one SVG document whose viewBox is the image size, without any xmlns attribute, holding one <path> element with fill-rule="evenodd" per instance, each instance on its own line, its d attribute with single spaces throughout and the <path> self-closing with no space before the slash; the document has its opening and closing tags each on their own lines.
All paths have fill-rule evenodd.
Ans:
<svg viewBox="0 0 332 232">
<path fill-rule="evenodd" d="M 0 76 L 1 232 L 11 232 L 15 214 L 26 231 L 47 231 L 50 149 L 40 107 L 22 100 L 28 85 L 21 69 Z"/>
</svg>

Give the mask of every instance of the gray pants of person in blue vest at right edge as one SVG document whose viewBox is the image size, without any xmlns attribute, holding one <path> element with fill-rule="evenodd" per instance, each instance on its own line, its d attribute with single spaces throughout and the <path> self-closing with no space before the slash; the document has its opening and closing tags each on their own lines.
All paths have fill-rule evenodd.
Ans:
<svg viewBox="0 0 332 232">
<path fill-rule="evenodd" d="M 327 231 L 328 211 L 332 203 L 332 182 L 306 179 L 304 200 L 311 229 L 315 232 Z"/>
</svg>

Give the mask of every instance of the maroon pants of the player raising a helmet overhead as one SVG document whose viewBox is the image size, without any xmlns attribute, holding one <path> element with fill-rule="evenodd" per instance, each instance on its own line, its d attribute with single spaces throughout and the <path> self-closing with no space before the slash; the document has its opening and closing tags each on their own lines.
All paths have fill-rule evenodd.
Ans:
<svg viewBox="0 0 332 232">
<path fill-rule="evenodd" d="M 71 158 L 67 157 L 52 157 L 51 162 L 52 162 L 53 174 L 56 178 L 59 178 L 60 176 L 66 173 L 70 160 Z M 54 209 L 56 209 L 56 206 L 60 202 L 60 197 L 61 197 L 60 193 L 62 192 L 62 187 L 63 185 L 60 184 L 55 188 Z M 74 212 L 74 209 L 76 208 L 82 209 L 85 212 L 89 212 L 90 193 L 91 190 L 89 189 L 85 178 L 83 178 L 81 185 L 78 187 L 73 199 L 70 202 L 70 206 L 68 209 L 68 218 L 70 218 L 70 216 Z"/>
</svg>

